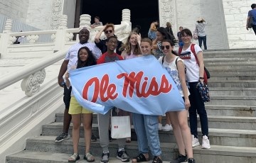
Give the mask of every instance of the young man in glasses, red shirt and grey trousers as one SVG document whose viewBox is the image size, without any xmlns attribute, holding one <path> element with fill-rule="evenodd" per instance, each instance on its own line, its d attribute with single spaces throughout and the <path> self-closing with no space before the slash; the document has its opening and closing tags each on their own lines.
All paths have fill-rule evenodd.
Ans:
<svg viewBox="0 0 256 163">
<path fill-rule="evenodd" d="M 114 52 L 117 48 L 118 40 L 115 36 L 110 36 L 107 38 L 107 52 L 105 52 L 102 57 L 97 60 L 97 64 L 114 62 L 115 60 L 123 60 L 123 58 Z M 112 110 L 108 111 L 105 115 L 98 114 L 98 125 L 99 125 L 99 135 L 100 135 L 100 146 L 102 147 L 102 158 L 101 163 L 108 163 L 110 157 L 110 151 L 108 149 L 110 140 L 108 135 L 108 130 L 110 127 L 110 113 Z M 118 150 L 117 159 L 121 159 L 122 162 L 129 162 L 129 157 L 127 152 L 124 150 L 125 138 L 117 139 Z"/>
</svg>

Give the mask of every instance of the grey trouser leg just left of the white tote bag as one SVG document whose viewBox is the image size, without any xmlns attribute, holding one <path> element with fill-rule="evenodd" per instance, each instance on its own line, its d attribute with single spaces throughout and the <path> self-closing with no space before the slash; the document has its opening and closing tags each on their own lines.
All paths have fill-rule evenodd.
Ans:
<svg viewBox="0 0 256 163">
<path fill-rule="evenodd" d="M 100 135 L 100 146 L 102 147 L 103 152 L 109 152 L 108 146 L 110 144 L 110 140 L 108 130 L 110 127 L 110 111 L 108 111 L 105 115 L 100 113 L 97 114 Z"/>
</svg>

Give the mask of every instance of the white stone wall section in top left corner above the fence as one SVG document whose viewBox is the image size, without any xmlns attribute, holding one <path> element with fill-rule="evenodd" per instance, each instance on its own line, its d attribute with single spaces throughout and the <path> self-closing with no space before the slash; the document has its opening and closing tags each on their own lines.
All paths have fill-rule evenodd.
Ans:
<svg viewBox="0 0 256 163">
<path fill-rule="evenodd" d="M 0 0 L 0 13 L 26 23 L 29 0 Z"/>
</svg>

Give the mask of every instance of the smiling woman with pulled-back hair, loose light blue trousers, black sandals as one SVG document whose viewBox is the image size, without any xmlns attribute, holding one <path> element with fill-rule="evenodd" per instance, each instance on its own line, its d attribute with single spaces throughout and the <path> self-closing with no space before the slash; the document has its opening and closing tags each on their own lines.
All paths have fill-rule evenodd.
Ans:
<svg viewBox="0 0 256 163">
<path fill-rule="evenodd" d="M 142 39 L 140 44 L 142 55 L 151 55 L 152 42 L 149 38 Z M 148 162 L 149 148 L 154 156 L 152 163 L 161 163 L 161 148 L 158 134 L 158 116 L 132 113 L 132 123 L 137 134 L 139 154 L 132 162 Z"/>
</svg>

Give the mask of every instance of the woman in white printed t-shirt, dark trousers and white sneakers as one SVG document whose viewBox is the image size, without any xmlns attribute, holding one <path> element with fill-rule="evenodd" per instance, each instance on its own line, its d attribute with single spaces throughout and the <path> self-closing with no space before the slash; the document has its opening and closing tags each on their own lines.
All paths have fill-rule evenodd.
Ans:
<svg viewBox="0 0 256 163">
<path fill-rule="evenodd" d="M 206 113 L 206 108 L 203 103 L 203 99 L 201 98 L 201 95 L 196 88 L 198 81 L 203 84 L 203 52 L 198 45 L 192 45 L 192 38 L 193 36 L 191 30 L 181 30 L 181 39 L 184 45 L 182 47 L 181 54 L 178 54 L 180 55 L 181 59 L 184 60 L 184 64 L 186 65 L 186 79 L 188 80 L 189 91 L 191 93 L 191 95 L 189 96 L 189 101 L 191 102 L 191 108 L 189 108 L 189 123 L 191 127 L 192 147 L 200 145 L 197 132 L 198 113 L 203 134 L 202 148 L 210 149 L 210 142 L 208 139 L 208 117 Z M 196 57 L 193 55 L 191 46 L 193 46 L 193 51 L 196 53 L 195 55 L 198 58 L 198 62 L 196 62 Z"/>
</svg>

